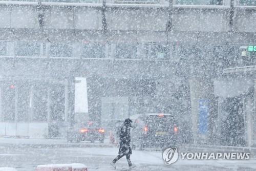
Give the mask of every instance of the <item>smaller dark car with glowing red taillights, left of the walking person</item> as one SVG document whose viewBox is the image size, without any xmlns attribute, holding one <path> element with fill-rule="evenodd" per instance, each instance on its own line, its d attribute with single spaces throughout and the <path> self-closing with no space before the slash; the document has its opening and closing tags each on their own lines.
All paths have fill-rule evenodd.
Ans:
<svg viewBox="0 0 256 171">
<path fill-rule="evenodd" d="M 78 126 L 68 134 L 68 141 L 100 141 L 104 142 L 105 130 L 97 123 L 89 122 L 86 126 Z"/>
</svg>

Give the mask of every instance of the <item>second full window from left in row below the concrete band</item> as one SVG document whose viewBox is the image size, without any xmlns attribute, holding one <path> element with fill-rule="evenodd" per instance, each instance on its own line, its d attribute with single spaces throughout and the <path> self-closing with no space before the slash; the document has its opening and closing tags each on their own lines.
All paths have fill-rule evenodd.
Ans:
<svg viewBox="0 0 256 171">
<path fill-rule="evenodd" d="M 73 46 L 68 44 L 54 43 L 50 46 L 51 57 L 72 57 Z"/>
</svg>

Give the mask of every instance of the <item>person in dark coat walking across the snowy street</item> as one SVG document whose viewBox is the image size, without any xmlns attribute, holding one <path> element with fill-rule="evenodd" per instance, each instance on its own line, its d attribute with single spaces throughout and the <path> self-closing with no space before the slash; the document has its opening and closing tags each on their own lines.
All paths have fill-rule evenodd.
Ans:
<svg viewBox="0 0 256 171">
<path fill-rule="evenodd" d="M 126 156 L 126 160 L 128 162 L 129 168 L 135 167 L 132 164 L 130 156 L 132 154 L 131 148 L 131 127 L 132 127 L 132 120 L 127 118 L 124 120 L 123 125 L 118 131 L 118 135 L 120 138 L 119 142 L 119 152 L 117 157 L 110 163 L 114 168 L 116 168 L 116 162 L 121 159 L 123 156 Z"/>
</svg>

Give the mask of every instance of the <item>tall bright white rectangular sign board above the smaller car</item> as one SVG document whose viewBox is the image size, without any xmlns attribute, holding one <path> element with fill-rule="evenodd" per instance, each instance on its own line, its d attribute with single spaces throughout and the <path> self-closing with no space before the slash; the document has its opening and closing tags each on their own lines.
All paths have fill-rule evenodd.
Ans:
<svg viewBox="0 0 256 171">
<path fill-rule="evenodd" d="M 88 113 L 87 80 L 75 78 L 75 113 Z"/>
</svg>

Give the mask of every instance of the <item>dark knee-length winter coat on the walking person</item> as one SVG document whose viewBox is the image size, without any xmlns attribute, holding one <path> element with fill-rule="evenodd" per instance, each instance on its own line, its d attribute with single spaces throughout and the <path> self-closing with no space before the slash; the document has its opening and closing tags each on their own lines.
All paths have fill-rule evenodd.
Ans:
<svg viewBox="0 0 256 171">
<path fill-rule="evenodd" d="M 120 147 L 119 147 L 119 155 L 131 155 L 131 126 L 124 124 L 119 131 L 120 138 Z"/>
</svg>

